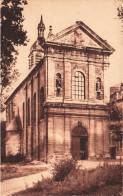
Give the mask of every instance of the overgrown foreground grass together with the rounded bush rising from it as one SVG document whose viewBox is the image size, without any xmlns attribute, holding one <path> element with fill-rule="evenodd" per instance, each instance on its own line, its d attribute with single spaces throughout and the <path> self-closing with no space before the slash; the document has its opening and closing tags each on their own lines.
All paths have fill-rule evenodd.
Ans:
<svg viewBox="0 0 123 196">
<path fill-rule="evenodd" d="M 118 196 L 122 189 L 122 167 L 120 165 L 98 166 L 93 170 L 74 167 L 75 162 L 64 160 L 56 164 L 53 178 L 43 179 L 21 195 L 89 195 Z M 66 172 L 68 171 L 69 172 Z M 61 175 L 62 174 L 62 175 Z"/>
</svg>

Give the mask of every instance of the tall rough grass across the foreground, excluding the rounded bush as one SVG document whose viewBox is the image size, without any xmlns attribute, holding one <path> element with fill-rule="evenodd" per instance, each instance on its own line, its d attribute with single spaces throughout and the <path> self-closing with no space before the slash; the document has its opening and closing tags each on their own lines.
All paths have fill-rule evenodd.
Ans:
<svg viewBox="0 0 123 196">
<path fill-rule="evenodd" d="M 100 188 L 116 185 L 118 188 L 113 190 L 114 195 L 117 195 L 122 188 L 122 167 L 104 165 L 93 170 L 74 168 L 64 180 L 43 179 L 25 193 L 31 193 L 31 195 L 36 192 L 38 195 L 96 195 L 96 191 Z M 24 192 L 20 195 L 24 195 Z M 104 195 L 103 192 L 102 195 Z"/>
</svg>

